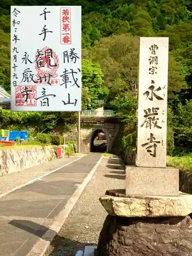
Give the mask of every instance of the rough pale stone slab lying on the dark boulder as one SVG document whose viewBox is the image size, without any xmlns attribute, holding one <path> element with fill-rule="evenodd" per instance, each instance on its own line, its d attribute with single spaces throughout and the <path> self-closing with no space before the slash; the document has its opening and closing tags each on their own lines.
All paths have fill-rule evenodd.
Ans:
<svg viewBox="0 0 192 256">
<path fill-rule="evenodd" d="M 99 198 L 109 215 L 119 217 L 179 217 L 192 212 L 192 195 L 178 197 L 113 197 Z"/>
</svg>

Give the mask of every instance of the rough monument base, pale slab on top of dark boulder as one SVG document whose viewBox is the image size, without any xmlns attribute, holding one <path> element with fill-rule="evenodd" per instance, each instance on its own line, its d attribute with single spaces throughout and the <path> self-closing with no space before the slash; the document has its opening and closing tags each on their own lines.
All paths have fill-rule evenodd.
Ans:
<svg viewBox="0 0 192 256">
<path fill-rule="evenodd" d="M 109 215 L 98 256 L 192 255 L 192 195 L 127 197 L 121 189 L 99 200 Z"/>
</svg>

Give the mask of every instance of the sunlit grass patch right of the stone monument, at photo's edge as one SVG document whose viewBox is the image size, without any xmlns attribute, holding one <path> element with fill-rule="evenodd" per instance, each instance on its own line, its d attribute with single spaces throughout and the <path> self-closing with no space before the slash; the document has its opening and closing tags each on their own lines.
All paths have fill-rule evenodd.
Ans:
<svg viewBox="0 0 192 256">
<path fill-rule="evenodd" d="M 167 166 L 172 166 L 192 173 L 192 153 L 182 157 L 167 156 Z"/>
</svg>

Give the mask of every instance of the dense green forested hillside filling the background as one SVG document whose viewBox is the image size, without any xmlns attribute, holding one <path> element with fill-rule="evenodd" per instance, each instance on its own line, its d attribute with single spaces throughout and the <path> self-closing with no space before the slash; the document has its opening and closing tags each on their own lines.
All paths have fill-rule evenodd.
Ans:
<svg viewBox="0 0 192 256">
<path fill-rule="evenodd" d="M 122 143 L 136 127 L 139 36 L 169 37 L 168 153 L 192 141 L 192 4 L 189 0 L 0 0 L 0 82 L 10 90 L 10 5 L 82 6 L 82 108 L 95 100 L 123 117 Z M 188 100 L 186 102 L 186 99 Z M 74 113 L 0 113 L 2 127 L 31 126 L 37 132 L 67 131 Z M 34 121 L 35 120 L 35 121 Z M 128 127 L 127 127 L 128 126 Z M 127 137 L 128 136 L 128 137 Z M 173 136 L 175 138 L 174 141 Z"/>
</svg>

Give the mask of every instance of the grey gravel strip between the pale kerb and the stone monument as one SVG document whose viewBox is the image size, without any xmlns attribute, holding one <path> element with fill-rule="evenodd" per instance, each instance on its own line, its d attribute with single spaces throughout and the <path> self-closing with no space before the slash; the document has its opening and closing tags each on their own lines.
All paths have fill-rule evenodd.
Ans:
<svg viewBox="0 0 192 256">
<path fill-rule="evenodd" d="M 108 215 L 99 202 L 106 189 L 124 188 L 124 166 L 116 156 L 105 156 L 45 256 L 75 256 L 86 245 L 96 245 Z"/>
</svg>

